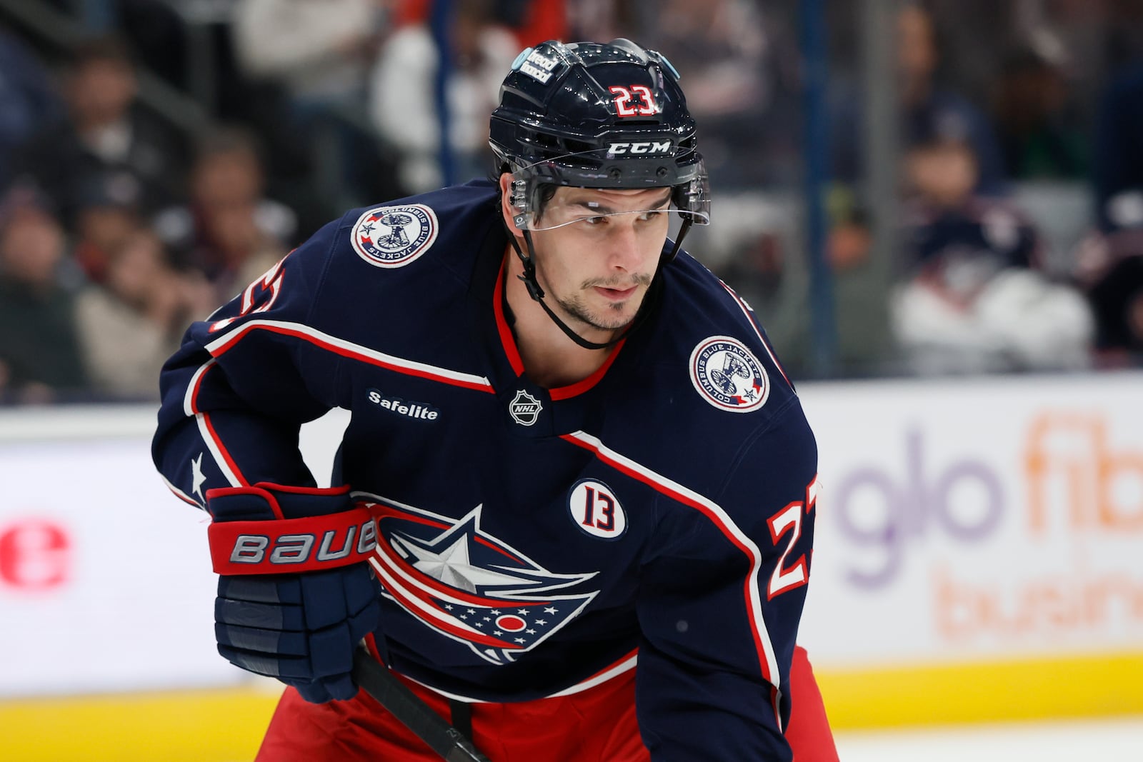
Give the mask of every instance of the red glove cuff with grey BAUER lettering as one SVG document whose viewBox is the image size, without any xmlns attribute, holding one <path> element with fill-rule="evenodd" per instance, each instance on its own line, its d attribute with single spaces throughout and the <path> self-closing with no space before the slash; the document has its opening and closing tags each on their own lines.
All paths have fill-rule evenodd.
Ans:
<svg viewBox="0 0 1143 762">
<path fill-rule="evenodd" d="M 214 521 L 207 528 L 219 575 L 318 571 L 360 563 L 377 545 L 369 510 L 278 521 Z"/>
</svg>

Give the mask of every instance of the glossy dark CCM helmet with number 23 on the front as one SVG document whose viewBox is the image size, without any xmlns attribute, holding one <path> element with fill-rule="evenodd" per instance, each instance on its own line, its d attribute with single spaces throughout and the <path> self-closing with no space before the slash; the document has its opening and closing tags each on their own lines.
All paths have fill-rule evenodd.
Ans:
<svg viewBox="0 0 1143 762">
<path fill-rule="evenodd" d="M 680 215 L 708 224 L 706 169 L 678 80 L 663 55 L 625 39 L 525 49 L 489 129 L 497 161 L 513 175 L 517 226 L 538 228 L 543 189 L 560 185 L 672 187 Z"/>
</svg>

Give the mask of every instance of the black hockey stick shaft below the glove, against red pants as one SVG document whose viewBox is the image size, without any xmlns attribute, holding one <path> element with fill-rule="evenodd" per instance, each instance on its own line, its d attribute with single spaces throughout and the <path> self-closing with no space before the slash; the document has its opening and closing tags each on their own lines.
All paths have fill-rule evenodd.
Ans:
<svg viewBox="0 0 1143 762">
<path fill-rule="evenodd" d="M 353 680 L 445 762 L 491 762 L 363 648 L 353 653 Z"/>
</svg>

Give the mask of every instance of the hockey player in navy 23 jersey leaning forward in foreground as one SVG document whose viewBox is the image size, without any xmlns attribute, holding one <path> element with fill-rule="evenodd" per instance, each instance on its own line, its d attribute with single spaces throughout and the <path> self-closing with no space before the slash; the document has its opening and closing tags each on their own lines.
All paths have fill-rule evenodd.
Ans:
<svg viewBox="0 0 1143 762">
<path fill-rule="evenodd" d="M 680 250 L 710 202 L 677 80 L 628 40 L 525 50 L 495 181 L 347 212 L 167 363 L 218 649 L 288 685 L 259 760 L 433 759 L 358 692 L 362 639 L 497 762 L 837 759 L 794 648 L 814 436 Z M 335 407 L 318 488 L 298 428 Z"/>
</svg>

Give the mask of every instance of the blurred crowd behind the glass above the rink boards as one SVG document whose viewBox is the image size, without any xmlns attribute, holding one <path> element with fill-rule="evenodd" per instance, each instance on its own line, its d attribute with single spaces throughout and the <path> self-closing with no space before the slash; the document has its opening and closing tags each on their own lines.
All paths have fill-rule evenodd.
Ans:
<svg viewBox="0 0 1143 762">
<path fill-rule="evenodd" d="M 814 372 L 790 224 L 798 3 L 98 2 L 102 29 L 61 39 L 0 10 L 0 401 L 157 399 L 186 324 L 319 225 L 486 176 L 498 83 L 550 38 L 629 37 L 671 58 L 716 198 L 690 248 L 761 313 L 791 370 Z M 1143 0 L 902 0 L 887 33 L 900 214 L 885 252 L 863 190 L 862 5 L 826 3 L 831 375 L 1140 364 Z M 144 97 L 144 80 L 197 97 L 202 123 Z M 1078 234 L 1024 208 L 1036 184 L 1081 200 Z"/>
</svg>

